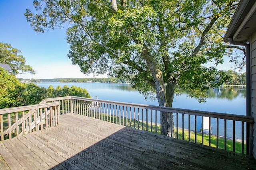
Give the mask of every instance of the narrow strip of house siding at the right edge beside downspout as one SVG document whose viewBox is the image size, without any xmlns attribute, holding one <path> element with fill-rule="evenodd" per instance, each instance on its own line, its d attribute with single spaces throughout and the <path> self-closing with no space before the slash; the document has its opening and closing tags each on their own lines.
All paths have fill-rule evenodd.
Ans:
<svg viewBox="0 0 256 170">
<path fill-rule="evenodd" d="M 253 126 L 253 156 L 256 158 L 256 32 L 250 37 L 251 50 L 251 94 L 252 94 L 252 117 L 254 117 Z"/>
</svg>

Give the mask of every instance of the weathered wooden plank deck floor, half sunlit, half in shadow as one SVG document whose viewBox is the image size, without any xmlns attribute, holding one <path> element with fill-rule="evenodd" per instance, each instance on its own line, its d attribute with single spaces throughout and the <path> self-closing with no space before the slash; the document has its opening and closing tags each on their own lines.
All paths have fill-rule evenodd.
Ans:
<svg viewBox="0 0 256 170">
<path fill-rule="evenodd" d="M 0 169 L 256 169 L 252 156 L 82 115 L 0 142 Z"/>
</svg>

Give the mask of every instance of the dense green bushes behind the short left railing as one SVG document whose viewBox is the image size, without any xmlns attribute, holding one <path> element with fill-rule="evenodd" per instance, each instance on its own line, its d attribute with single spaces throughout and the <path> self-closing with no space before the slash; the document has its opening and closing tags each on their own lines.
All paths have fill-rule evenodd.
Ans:
<svg viewBox="0 0 256 170">
<path fill-rule="evenodd" d="M 0 109 L 8 107 L 26 106 L 40 103 L 44 98 L 63 96 L 80 96 L 90 98 L 86 89 L 80 87 L 60 86 L 54 89 L 39 87 L 34 83 L 20 83 L 14 74 L 8 74 L 0 67 Z"/>
</svg>

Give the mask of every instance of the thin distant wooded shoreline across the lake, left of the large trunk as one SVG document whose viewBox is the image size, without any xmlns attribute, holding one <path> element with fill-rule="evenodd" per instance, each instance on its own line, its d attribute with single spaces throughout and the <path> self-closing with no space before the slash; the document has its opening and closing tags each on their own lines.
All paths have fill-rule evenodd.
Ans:
<svg viewBox="0 0 256 170">
<path fill-rule="evenodd" d="M 102 82 L 102 83 L 128 83 L 129 80 L 127 78 L 53 78 L 53 79 L 23 79 L 19 78 L 19 80 L 29 80 L 31 82 Z"/>
</svg>

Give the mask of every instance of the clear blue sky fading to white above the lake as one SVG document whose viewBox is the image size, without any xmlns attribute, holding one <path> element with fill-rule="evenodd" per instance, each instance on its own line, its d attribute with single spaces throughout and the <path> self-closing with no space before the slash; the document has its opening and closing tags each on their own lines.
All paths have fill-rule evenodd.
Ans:
<svg viewBox="0 0 256 170">
<path fill-rule="evenodd" d="M 36 74 L 18 74 L 17 78 L 88 78 L 80 72 L 77 65 L 72 65 L 67 54 L 69 44 L 66 43 L 66 29 L 50 29 L 44 33 L 36 33 L 26 21 L 26 8 L 34 10 L 33 0 L 0 0 L 0 42 L 9 43 L 22 51 Z M 218 69 L 228 70 L 229 59 Z M 98 77 L 106 77 L 100 75 Z"/>
</svg>

